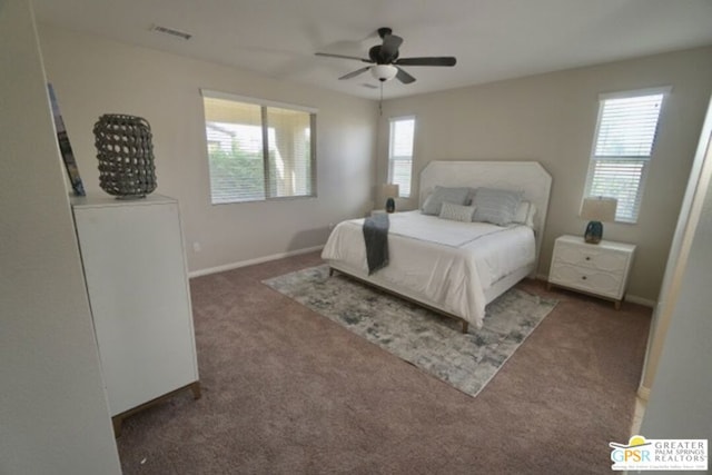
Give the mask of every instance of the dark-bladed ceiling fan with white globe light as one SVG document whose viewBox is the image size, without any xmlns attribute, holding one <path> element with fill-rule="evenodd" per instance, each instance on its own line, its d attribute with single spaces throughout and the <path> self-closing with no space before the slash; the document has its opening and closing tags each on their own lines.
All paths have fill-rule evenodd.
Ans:
<svg viewBox="0 0 712 475">
<path fill-rule="evenodd" d="M 374 78 L 382 82 L 388 81 L 394 77 L 404 85 L 415 81 L 415 78 L 406 72 L 402 66 L 455 66 L 457 60 L 452 56 L 437 56 L 424 58 L 398 58 L 398 48 L 403 43 L 403 38 L 393 34 L 390 28 L 379 28 L 378 36 L 383 39 L 383 44 L 376 44 L 368 50 L 368 59 L 355 56 L 332 55 L 328 52 L 317 52 L 316 56 L 325 56 L 329 58 L 355 59 L 357 61 L 367 62 L 372 66 L 352 71 L 338 79 L 350 79 L 363 72 L 370 70 Z"/>
</svg>

